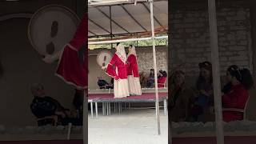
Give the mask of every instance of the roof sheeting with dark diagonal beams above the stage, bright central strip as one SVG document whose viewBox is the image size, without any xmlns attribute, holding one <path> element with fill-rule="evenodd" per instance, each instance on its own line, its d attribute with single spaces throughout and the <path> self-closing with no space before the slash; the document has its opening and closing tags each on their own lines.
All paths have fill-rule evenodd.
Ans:
<svg viewBox="0 0 256 144">
<path fill-rule="evenodd" d="M 111 11 L 111 12 L 110 12 Z M 89 37 L 134 34 L 151 30 L 148 2 L 88 9 Z M 110 19 L 112 29 L 110 29 Z M 154 27 L 168 26 L 168 1 L 154 2 Z"/>
</svg>

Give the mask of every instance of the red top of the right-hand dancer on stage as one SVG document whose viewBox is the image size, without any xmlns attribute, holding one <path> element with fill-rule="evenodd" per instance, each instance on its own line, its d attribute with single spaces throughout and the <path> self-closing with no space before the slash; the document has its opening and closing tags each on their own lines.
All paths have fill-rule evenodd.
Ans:
<svg viewBox="0 0 256 144">
<path fill-rule="evenodd" d="M 130 54 L 130 56 L 127 58 L 128 66 L 127 66 L 127 74 L 128 75 L 134 75 L 134 77 L 139 77 L 138 74 L 138 63 L 137 58 L 134 54 Z"/>
</svg>

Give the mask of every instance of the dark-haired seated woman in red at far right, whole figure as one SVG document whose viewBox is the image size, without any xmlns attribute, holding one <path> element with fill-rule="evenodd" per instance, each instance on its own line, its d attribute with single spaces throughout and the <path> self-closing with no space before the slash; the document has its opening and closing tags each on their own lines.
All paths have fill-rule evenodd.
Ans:
<svg viewBox="0 0 256 144">
<path fill-rule="evenodd" d="M 222 95 L 223 121 L 231 122 L 243 119 L 243 110 L 249 98 L 249 92 L 254 81 L 248 69 L 230 66 L 226 70 L 228 80 L 226 94 Z M 228 86 L 229 85 L 229 86 Z"/>
</svg>

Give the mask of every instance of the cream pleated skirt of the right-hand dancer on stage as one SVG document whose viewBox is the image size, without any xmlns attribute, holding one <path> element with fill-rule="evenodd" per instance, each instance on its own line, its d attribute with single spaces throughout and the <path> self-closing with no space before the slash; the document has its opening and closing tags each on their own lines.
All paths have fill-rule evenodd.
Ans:
<svg viewBox="0 0 256 144">
<path fill-rule="evenodd" d="M 128 75 L 128 83 L 130 95 L 142 95 L 142 87 L 138 77 Z"/>
</svg>

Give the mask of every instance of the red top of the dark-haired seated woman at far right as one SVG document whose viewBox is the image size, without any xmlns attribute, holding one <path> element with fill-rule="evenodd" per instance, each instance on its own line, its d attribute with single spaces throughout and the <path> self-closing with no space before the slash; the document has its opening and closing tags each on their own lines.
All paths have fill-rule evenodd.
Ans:
<svg viewBox="0 0 256 144">
<path fill-rule="evenodd" d="M 233 86 L 229 93 L 222 96 L 223 108 L 244 109 L 249 93 L 242 84 Z M 223 120 L 225 122 L 242 120 L 243 113 L 238 111 L 223 110 Z"/>
</svg>

